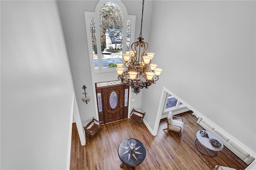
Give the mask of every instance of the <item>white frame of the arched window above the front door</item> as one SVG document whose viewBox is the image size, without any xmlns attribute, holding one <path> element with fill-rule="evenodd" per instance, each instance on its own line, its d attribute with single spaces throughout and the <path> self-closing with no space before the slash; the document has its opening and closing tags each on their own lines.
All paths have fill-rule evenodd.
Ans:
<svg viewBox="0 0 256 170">
<path fill-rule="evenodd" d="M 134 42 L 134 32 L 135 32 L 135 22 L 136 16 L 128 15 L 126 7 L 121 0 L 100 0 L 96 5 L 94 12 L 84 12 L 84 19 L 86 25 L 86 35 L 87 35 L 87 42 L 88 42 L 88 53 L 90 59 L 90 67 L 91 71 L 94 73 L 100 72 L 110 72 L 116 71 L 115 68 L 102 68 L 102 53 L 101 53 L 101 44 L 100 44 L 100 27 L 99 27 L 99 12 L 101 7 L 106 4 L 107 2 L 113 2 L 117 4 L 123 13 L 123 34 L 127 33 L 127 20 L 131 20 L 131 35 L 130 35 L 130 45 Z M 98 55 L 98 69 L 94 68 L 94 59 L 93 59 L 93 49 L 92 49 L 92 39 L 91 39 L 91 31 L 90 31 L 90 18 L 94 18 L 95 20 L 95 29 L 96 29 L 96 43 L 97 43 L 97 55 Z M 125 44 L 125 47 L 124 47 Z M 126 53 L 126 36 L 123 36 L 123 49 L 122 53 Z M 98 50 L 100 49 L 100 50 Z M 124 59 L 122 59 L 124 63 Z"/>
</svg>

